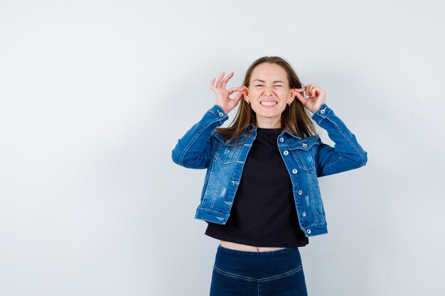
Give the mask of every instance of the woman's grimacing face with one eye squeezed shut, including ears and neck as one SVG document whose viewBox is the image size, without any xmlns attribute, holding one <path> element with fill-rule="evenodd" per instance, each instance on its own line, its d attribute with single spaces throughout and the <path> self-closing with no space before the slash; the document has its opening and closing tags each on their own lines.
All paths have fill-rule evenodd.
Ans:
<svg viewBox="0 0 445 296">
<path fill-rule="evenodd" d="M 294 100 L 286 71 L 277 64 L 264 62 L 254 68 L 250 86 L 244 88 L 245 100 L 250 101 L 257 115 L 257 126 L 281 127 L 282 112 Z"/>
</svg>

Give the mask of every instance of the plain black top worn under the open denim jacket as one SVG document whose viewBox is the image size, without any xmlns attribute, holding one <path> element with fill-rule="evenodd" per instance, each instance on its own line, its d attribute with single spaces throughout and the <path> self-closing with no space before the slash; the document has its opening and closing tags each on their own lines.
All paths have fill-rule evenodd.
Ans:
<svg viewBox="0 0 445 296">
<path fill-rule="evenodd" d="M 250 246 L 306 246 L 291 178 L 277 146 L 282 128 L 257 128 L 226 224 L 208 222 L 205 234 Z"/>
</svg>

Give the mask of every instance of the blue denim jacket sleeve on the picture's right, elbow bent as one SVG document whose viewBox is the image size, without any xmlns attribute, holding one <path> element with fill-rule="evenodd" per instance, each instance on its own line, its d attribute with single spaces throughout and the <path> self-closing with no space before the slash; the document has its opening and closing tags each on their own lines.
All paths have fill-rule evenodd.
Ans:
<svg viewBox="0 0 445 296">
<path fill-rule="evenodd" d="M 326 104 L 312 115 L 318 126 L 328 131 L 328 136 L 335 143 L 331 147 L 320 143 L 317 153 L 317 176 L 333 175 L 346 170 L 360 168 L 368 162 L 368 153 L 358 143 L 354 134 Z"/>
</svg>

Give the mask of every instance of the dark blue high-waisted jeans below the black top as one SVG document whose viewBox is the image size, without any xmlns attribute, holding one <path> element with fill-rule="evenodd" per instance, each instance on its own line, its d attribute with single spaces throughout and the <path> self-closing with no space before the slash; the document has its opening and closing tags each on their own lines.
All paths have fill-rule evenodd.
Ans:
<svg viewBox="0 0 445 296">
<path fill-rule="evenodd" d="M 210 296 L 307 295 L 298 248 L 239 251 L 218 246 Z"/>
</svg>

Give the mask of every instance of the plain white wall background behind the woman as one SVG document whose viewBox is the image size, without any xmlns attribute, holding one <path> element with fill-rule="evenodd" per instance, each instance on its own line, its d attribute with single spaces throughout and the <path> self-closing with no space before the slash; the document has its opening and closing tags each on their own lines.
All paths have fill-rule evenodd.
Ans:
<svg viewBox="0 0 445 296">
<path fill-rule="evenodd" d="M 368 152 L 320 178 L 329 234 L 301 248 L 309 295 L 443 295 L 444 12 L 0 1 L 0 295 L 208 295 L 205 170 L 171 150 L 213 106 L 210 80 L 240 86 L 264 55 L 325 89 Z"/>
</svg>

